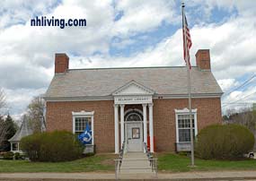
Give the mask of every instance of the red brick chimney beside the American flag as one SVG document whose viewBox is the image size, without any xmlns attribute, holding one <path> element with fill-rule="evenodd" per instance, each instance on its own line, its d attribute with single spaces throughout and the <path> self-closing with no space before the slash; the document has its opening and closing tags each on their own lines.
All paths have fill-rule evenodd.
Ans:
<svg viewBox="0 0 256 181">
<path fill-rule="evenodd" d="M 199 49 L 196 54 L 196 61 L 199 70 L 210 71 L 211 61 L 210 61 L 210 50 L 209 49 Z"/>
</svg>

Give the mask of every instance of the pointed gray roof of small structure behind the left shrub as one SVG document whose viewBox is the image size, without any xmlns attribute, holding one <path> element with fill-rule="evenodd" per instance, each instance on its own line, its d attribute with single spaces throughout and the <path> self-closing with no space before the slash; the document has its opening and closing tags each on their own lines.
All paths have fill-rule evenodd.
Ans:
<svg viewBox="0 0 256 181">
<path fill-rule="evenodd" d="M 26 117 L 24 117 L 21 127 L 16 132 L 16 134 L 14 134 L 13 137 L 8 141 L 9 142 L 20 142 L 22 140 L 22 137 L 31 135 L 32 133 L 33 133 L 33 131 L 31 129 L 31 126 L 29 125 L 29 120 Z"/>
</svg>

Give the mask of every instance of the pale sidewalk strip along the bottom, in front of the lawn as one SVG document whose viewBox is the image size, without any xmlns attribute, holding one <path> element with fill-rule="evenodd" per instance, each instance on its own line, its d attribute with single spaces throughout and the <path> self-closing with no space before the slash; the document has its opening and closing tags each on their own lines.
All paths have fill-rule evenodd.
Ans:
<svg viewBox="0 0 256 181">
<path fill-rule="evenodd" d="M 114 173 L 5 173 L 0 174 L 1 181 L 82 181 L 82 180 L 114 180 Z M 148 174 L 129 174 L 121 179 L 157 179 Z M 213 172 L 186 172 L 186 173 L 159 173 L 158 179 L 165 180 L 256 180 L 256 171 L 213 171 Z"/>
</svg>

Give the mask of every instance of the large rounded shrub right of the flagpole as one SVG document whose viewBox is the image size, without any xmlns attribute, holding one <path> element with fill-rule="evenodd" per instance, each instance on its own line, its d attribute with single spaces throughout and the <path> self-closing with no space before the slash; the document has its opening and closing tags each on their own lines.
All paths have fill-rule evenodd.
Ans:
<svg viewBox="0 0 256 181">
<path fill-rule="evenodd" d="M 209 125 L 196 142 L 196 154 L 202 159 L 239 159 L 252 151 L 254 136 L 243 125 Z"/>
</svg>

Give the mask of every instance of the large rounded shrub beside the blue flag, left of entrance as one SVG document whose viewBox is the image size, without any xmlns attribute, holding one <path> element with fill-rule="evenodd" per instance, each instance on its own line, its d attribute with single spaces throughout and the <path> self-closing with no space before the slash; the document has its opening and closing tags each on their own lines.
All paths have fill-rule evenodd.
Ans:
<svg viewBox="0 0 256 181">
<path fill-rule="evenodd" d="M 84 147 L 66 131 L 31 134 L 22 138 L 22 151 L 32 161 L 67 161 L 81 157 Z"/>
</svg>

